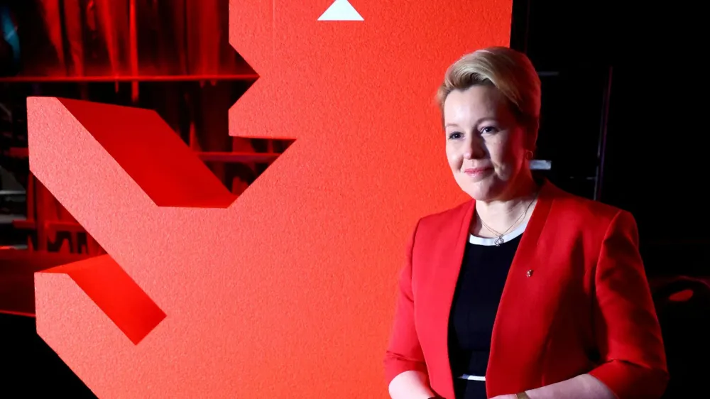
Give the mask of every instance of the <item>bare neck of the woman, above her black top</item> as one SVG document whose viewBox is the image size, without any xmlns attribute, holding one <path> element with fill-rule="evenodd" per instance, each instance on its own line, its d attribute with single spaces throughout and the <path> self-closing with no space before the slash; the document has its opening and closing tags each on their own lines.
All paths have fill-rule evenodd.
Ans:
<svg viewBox="0 0 710 399">
<path fill-rule="evenodd" d="M 515 229 L 528 221 L 534 207 L 532 202 L 537 194 L 537 184 L 532 179 L 532 175 L 527 175 L 513 187 L 515 190 L 496 200 L 476 201 L 477 217 L 476 222 L 471 226 L 472 233 L 480 236 L 497 236 L 496 232 L 507 234 L 510 233 L 508 230 Z"/>
</svg>

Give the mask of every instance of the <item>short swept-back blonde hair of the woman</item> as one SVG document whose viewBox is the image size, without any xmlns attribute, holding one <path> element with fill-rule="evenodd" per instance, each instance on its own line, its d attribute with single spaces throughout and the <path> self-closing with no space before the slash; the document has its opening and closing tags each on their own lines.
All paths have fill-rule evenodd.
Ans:
<svg viewBox="0 0 710 399">
<path fill-rule="evenodd" d="M 466 54 L 454 62 L 444 75 L 437 92 L 439 109 L 454 90 L 465 90 L 478 84 L 495 86 L 510 102 L 516 118 L 532 133 L 540 123 L 540 77 L 530 59 L 506 47 L 491 47 Z"/>
</svg>

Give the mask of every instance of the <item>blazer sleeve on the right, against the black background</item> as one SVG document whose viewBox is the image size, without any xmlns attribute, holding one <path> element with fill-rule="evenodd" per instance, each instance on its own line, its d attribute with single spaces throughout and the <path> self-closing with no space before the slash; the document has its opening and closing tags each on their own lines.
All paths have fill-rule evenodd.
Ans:
<svg viewBox="0 0 710 399">
<path fill-rule="evenodd" d="M 668 372 L 660 325 L 638 251 L 638 229 L 619 211 L 594 273 L 594 328 L 601 364 L 589 374 L 619 399 L 660 398 Z"/>
</svg>

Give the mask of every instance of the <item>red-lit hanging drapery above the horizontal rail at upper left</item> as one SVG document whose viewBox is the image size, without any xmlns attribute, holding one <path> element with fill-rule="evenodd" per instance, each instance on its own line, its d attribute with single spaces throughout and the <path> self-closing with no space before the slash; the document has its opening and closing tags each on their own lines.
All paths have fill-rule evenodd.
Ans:
<svg viewBox="0 0 710 399">
<path fill-rule="evenodd" d="M 141 75 L 215 75 L 234 67 L 228 0 L 38 0 L 62 75 L 130 73 L 131 1 Z"/>
</svg>

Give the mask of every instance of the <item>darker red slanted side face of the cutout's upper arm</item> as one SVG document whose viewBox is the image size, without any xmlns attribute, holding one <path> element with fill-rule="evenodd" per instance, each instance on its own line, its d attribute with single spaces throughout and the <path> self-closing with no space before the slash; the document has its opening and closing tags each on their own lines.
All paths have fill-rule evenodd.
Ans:
<svg viewBox="0 0 710 399">
<path fill-rule="evenodd" d="M 236 200 L 155 112 L 61 102 L 159 207 L 226 208 Z"/>
</svg>

